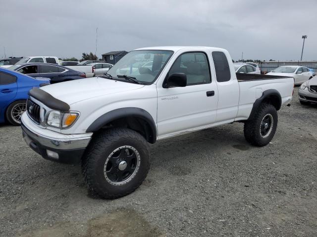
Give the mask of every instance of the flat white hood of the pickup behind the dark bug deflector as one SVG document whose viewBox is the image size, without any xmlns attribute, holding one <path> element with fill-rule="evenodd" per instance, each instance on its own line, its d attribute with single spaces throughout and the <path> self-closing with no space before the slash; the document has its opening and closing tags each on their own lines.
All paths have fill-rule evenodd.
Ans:
<svg viewBox="0 0 317 237">
<path fill-rule="evenodd" d="M 105 78 L 87 78 L 65 81 L 41 87 L 58 100 L 71 105 L 93 97 L 135 90 L 144 85 Z"/>
</svg>

